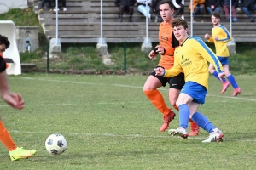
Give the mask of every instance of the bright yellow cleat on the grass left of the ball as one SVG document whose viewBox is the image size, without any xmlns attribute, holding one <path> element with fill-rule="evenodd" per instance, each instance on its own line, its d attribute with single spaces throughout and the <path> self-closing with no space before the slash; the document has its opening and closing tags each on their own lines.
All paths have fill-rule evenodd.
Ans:
<svg viewBox="0 0 256 170">
<path fill-rule="evenodd" d="M 11 161 L 17 161 L 20 158 L 27 159 L 28 157 L 34 155 L 37 150 L 24 150 L 23 147 L 17 147 L 15 150 L 9 152 Z"/>
</svg>

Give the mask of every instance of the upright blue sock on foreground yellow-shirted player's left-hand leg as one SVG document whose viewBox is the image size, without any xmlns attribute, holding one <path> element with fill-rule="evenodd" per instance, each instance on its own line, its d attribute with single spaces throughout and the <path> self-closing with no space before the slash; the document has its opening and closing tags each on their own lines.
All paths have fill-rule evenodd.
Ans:
<svg viewBox="0 0 256 170">
<path fill-rule="evenodd" d="M 179 127 L 183 127 L 185 129 L 188 128 L 189 122 L 189 106 L 187 104 L 182 104 L 178 106 L 179 110 Z"/>
</svg>

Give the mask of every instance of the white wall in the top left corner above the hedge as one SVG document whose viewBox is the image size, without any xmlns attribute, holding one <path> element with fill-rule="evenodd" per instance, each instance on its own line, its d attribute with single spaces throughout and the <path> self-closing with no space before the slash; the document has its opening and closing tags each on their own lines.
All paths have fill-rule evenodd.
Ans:
<svg viewBox="0 0 256 170">
<path fill-rule="evenodd" d="M 27 0 L 0 0 L 0 14 L 8 12 L 10 8 L 27 8 Z"/>
</svg>

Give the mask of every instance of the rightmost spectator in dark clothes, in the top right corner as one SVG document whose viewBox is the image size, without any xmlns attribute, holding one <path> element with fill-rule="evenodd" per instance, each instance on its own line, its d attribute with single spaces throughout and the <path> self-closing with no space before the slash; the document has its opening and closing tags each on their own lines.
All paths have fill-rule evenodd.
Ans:
<svg viewBox="0 0 256 170">
<path fill-rule="evenodd" d="M 256 10 L 256 0 L 241 0 L 240 1 L 240 8 L 244 14 L 250 19 L 250 22 L 255 22 L 252 14 L 250 11 Z"/>
</svg>

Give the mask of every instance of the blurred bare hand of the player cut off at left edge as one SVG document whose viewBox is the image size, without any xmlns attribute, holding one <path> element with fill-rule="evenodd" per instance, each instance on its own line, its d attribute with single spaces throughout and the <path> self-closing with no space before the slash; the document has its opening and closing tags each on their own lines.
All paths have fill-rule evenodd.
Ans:
<svg viewBox="0 0 256 170">
<path fill-rule="evenodd" d="M 15 94 L 12 92 L 2 95 L 2 99 L 10 106 L 15 109 L 23 109 L 24 101 L 20 94 Z"/>
</svg>

